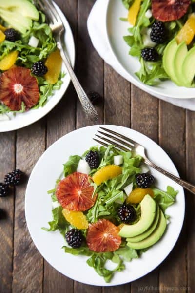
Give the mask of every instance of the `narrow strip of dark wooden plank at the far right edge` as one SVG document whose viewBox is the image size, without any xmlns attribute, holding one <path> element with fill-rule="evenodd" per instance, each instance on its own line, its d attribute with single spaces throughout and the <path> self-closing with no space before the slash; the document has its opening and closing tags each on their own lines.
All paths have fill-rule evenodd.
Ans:
<svg viewBox="0 0 195 293">
<path fill-rule="evenodd" d="M 195 112 L 187 111 L 186 119 L 186 179 L 195 185 Z M 187 270 L 191 291 L 195 288 L 195 196 L 186 192 Z"/>
</svg>

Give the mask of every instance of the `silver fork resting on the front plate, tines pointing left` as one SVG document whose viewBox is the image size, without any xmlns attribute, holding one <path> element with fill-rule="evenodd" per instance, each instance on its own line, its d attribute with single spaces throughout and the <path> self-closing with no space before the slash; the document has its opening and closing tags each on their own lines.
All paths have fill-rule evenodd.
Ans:
<svg viewBox="0 0 195 293">
<path fill-rule="evenodd" d="M 192 192 L 193 194 L 195 194 L 195 186 L 194 185 L 188 183 L 185 180 L 182 180 L 182 179 L 176 177 L 175 175 L 163 170 L 162 168 L 158 167 L 156 164 L 152 163 L 147 158 L 146 149 L 144 148 L 144 146 L 139 145 L 137 142 L 133 141 L 132 139 L 130 139 L 120 133 L 117 133 L 113 130 L 110 130 L 110 129 L 107 129 L 104 127 L 100 127 L 100 128 L 106 132 L 102 132 L 102 131 L 98 130 L 98 132 L 104 136 L 100 136 L 100 135 L 95 134 L 99 139 L 101 139 L 101 141 L 100 141 L 100 140 L 94 138 L 94 140 L 96 142 L 98 142 L 99 144 L 101 144 L 103 146 L 108 146 L 108 144 L 105 143 L 105 142 L 107 142 L 109 144 L 116 146 L 120 150 L 134 151 L 136 154 L 142 156 L 144 163 L 153 167 L 154 169 L 156 169 L 160 173 L 162 173 L 165 176 L 174 180 L 176 183 L 181 185 L 183 188 L 185 188 L 185 189 L 189 190 L 190 192 Z"/>
</svg>

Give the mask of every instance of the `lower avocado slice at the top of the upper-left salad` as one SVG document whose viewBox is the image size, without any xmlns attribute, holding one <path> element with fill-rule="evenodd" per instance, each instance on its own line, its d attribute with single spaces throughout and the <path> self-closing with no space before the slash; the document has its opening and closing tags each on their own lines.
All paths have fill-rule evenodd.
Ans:
<svg viewBox="0 0 195 293">
<path fill-rule="evenodd" d="M 0 17 L 20 33 L 25 33 L 32 26 L 32 20 L 21 14 L 16 15 L 9 10 L 0 8 Z"/>
</svg>

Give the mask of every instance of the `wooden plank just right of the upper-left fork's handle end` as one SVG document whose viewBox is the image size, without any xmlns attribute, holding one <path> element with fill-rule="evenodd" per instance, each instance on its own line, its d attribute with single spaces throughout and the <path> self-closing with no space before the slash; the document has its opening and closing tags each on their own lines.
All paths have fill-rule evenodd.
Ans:
<svg viewBox="0 0 195 293">
<path fill-rule="evenodd" d="M 104 67 L 104 123 L 130 127 L 130 83 L 115 72 L 112 67 Z M 130 285 L 103 287 L 103 293 L 129 293 Z"/>
</svg>

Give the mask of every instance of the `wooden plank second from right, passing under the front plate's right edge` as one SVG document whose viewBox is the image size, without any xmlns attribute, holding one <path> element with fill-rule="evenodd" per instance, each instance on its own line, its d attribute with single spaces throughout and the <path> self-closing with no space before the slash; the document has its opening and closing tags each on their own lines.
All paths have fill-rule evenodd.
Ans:
<svg viewBox="0 0 195 293">
<path fill-rule="evenodd" d="M 176 164 L 180 176 L 185 177 L 185 110 L 160 101 L 159 144 Z M 186 231 L 182 229 L 175 248 L 160 266 L 160 292 L 187 286 Z M 170 290 L 170 289 L 169 289 Z"/>
</svg>

